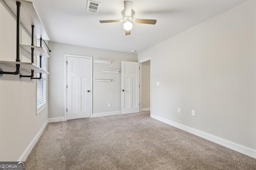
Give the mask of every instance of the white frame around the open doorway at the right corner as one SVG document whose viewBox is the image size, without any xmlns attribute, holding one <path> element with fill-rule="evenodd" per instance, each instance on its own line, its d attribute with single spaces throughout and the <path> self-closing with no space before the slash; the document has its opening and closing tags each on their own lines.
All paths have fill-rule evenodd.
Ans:
<svg viewBox="0 0 256 170">
<path fill-rule="evenodd" d="M 140 68 L 142 68 L 142 63 L 146 62 L 146 61 L 150 61 L 150 117 L 152 114 L 152 90 L 151 90 L 151 86 L 152 86 L 152 57 L 148 57 L 146 59 L 140 60 L 138 61 L 140 63 Z M 142 111 L 142 69 L 140 69 L 140 112 Z"/>
</svg>

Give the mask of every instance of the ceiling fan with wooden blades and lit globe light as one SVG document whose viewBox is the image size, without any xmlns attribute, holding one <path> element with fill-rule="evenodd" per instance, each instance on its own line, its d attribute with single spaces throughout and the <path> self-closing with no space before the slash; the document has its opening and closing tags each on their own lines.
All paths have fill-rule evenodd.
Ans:
<svg viewBox="0 0 256 170">
<path fill-rule="evenodd" d="M 132 29 L 132 22 L 134 23 L 146 23 L 146 24 L 156 24 L 156 20 L 146 20 L 146 19 L 133 19 L 134 11 L 132 10 L 132 2 L 124 1 L 124 10 L 122 11 L 123 20 L 101 20 L 100 23 L 110 23 L 110 22 L 123 22 L 124 23 L 124 35 L 130 35 Z"/>
</svg>

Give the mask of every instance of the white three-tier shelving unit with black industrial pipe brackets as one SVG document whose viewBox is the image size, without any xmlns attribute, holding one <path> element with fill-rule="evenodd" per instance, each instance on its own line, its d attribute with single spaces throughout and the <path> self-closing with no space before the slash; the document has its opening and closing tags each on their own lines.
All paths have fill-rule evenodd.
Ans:
<svg viewBox="0 0 256 170">
<path fill-rule="evenodd" d="M 23 76 L 20 74 L 20 78 L 30 77 L 31 80 L 40 79 L 41 74 L 49 74 L 46 70 L 41 68 L 41 58 L 49 57 L 47 51 L 42 47 L 42 41 L 50 40 L 46 30 L 44 29 L 44 25 L 42 24 L 42 21 L 40 20 L 32 2 L 26 0 L 3 1 L 17 18 L 16 61 L 0 61 L 0 63 L 16 67 L 16 70 L 14 72 L 5 72 L 2 68 L 0 68 L 0 77 L 3 76 L 3 74 L 17 75 L 20 73 L 20 70 L 24 70 L 26 72 L 31 72 L 31 75 Z M 30 33 L 31 45 L 20 45 L 20 24 L 22 24 L 28 33 Z M 34 38 L 40 39 L 40 47 L 34 46 Z M 31 63 L 24 63 L 20 61 L 20 47 L 31 54 Z M 40 67 L 34 64 L 34 56 L 40 56 Z M 40 78 L 33 78 L 34 73 L 40 73 Z"/>
</svg>

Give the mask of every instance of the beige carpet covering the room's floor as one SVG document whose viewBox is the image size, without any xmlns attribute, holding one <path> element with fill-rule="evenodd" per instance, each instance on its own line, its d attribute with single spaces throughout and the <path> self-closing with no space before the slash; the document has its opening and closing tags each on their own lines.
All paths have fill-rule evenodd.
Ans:
<svg viewBox="0 0 256 170">
<path fill-rule="evenodd" d="M 26 170 L 256 170 L 256 159 L 150 113 L 49 123 Z"/>
</svg>

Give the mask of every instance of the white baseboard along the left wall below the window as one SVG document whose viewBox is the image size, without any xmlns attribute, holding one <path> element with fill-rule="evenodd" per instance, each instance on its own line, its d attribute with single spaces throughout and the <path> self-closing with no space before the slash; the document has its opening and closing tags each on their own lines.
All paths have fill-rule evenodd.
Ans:
<svg viewBox="0 0 256 170">
<path fill-rule="evenodd" d="M 26 158 L 28 157 L 28 155 L 30 154 L 31 150 L 34 148 L 34 146 L 36 145 L 36 142 L 38 141 L 38 139 L 40 138 L 40 136 L 42 135 L 44 129 L 46 128 L 48 124 L 48 119 L 46 120 L 46 122 L 44 123 L 44 125 L 41 127 L 41 129 L 38 131 L 38 133 L 36 134 L 36 136 L 32 139 L 32 141 L 30 142 L 30 144 L 28 145 L 28 147 L 24 150 L 24 152 L 22 153 L 22 155 L 20 156 L 20 158 L 18 158 L 17 162 L 26 161 Z"/>
</svg>

